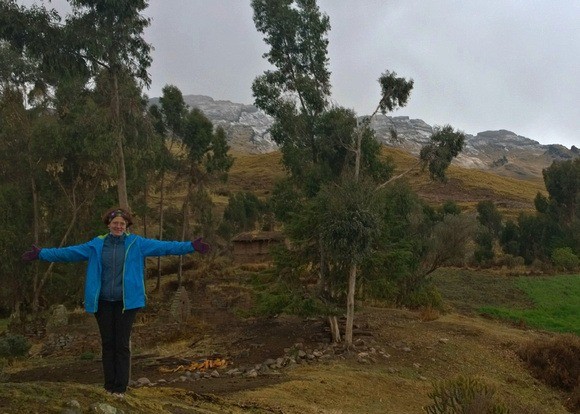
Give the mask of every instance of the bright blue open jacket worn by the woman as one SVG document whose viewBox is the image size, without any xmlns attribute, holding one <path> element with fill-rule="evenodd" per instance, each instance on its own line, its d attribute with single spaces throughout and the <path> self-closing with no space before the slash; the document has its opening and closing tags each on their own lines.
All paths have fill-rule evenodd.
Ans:
<svg viewBox="0 0 580 414">
<path fill-rule="evenodd" d="M 101 260 L 106 235 L 87 243 L 60 248 L 43 248 L 39 259 L 47 262 L 88 261 L 85 280 L 85 310 L 95 313 L 101 291 Z M 145 306 L 145 258 L 149 256 L 183 255 L 194 251 L 190 241 L 160 241 L 127 233 L 123 269 L 123 309 Z"/>
</svg>

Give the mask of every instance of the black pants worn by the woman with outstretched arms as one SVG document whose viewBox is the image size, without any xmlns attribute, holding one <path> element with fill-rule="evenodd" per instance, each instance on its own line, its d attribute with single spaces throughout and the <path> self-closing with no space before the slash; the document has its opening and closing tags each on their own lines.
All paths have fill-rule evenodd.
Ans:
<svg viewBox="0 0 580 414">
<path fill-rule="evenodd" d="M 131 370 L 131 329 L 137 309 L 123 312 L 123 302 L 99 301 L 95 313 L 101 333 L 105 389 L 125 392 Z"/>
</svg>

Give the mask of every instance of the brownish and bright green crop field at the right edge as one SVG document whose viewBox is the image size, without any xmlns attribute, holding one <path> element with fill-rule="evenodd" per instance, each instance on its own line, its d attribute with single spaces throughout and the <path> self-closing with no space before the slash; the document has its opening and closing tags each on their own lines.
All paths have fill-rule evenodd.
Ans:
<svg viewBox="0 0 580 414">
<path fill-rule="evenodd" d="M 580 275 L 510 277 L 443 269 L 433 281 L 448 305 L 457 311 L 580 335 Z"/>
</svg>

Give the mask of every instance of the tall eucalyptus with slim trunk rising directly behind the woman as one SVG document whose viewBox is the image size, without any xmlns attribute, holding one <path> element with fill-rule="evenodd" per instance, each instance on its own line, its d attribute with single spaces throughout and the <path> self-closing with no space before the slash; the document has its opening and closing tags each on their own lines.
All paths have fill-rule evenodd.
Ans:
<svg viewBox="0 0 580 414">
<path fill-rule="evenodd" d="M 68 77 L 87 82 L 106 75 L 110 84 L 107 108 L 117 150 L 119 204 L 128 207 L 125 166 L 126 127 L 120 102 L 121 76 L 131 76 L 148 86 L 150 45 L 143 39 L 149 19 L 141 13 L 146 0 L 68 0 L 72 12 L 64 19 L 54 10 L 14 0 L 0 4 L 0 39 L 33 57 L 43 76 L 33 81 L 44 88 Z"/>
</svg>

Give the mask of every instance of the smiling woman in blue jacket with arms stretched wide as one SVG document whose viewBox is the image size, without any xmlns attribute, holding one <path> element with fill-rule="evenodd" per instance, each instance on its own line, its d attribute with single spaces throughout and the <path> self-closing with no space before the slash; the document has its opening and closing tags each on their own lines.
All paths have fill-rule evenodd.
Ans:
<svg viewBox="0 0 580 414">
<path fill-rule="evenodd" d="M 109 233 L 87 243 L 25 252 L 26 261 L 88 261 L 85 310 L 94 313 L 101 334 L 105 390 L 123 397 L 129 383 L 130 338 L 137 311 L 145 306 L 145 258 L 209 251 L 201 238 L 192 242 L 160 241 L 129 233 L 131 214 L 122 208 L 108 210 L 103 222 Z"/>
</svg>

